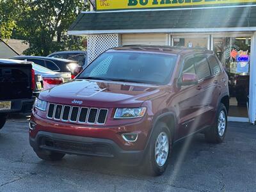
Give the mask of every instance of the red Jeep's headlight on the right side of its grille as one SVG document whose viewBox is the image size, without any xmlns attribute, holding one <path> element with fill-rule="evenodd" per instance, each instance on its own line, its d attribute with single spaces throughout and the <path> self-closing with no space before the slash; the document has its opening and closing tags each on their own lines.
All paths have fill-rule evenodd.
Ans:
<svg viewBox="0 0 256 192">
<path fill-rule="evenodd" d="M 117 108 L 114 118 L 137 118 L 144 116 L 146 108 Z"/>
</svg>

